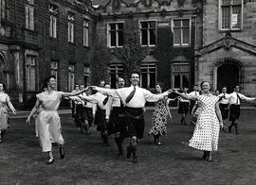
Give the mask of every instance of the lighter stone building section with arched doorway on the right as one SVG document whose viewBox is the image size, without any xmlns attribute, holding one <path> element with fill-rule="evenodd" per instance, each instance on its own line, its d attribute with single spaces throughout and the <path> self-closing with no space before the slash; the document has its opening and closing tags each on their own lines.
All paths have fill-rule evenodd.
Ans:
<svg viewBox="0 0 256 185">
<path fill-rule="evenodd" d="M 240 85 L 256 96 L 256 1 L 207 0 L 203 5 L 203 45 L 196 50 L 196 81 L 213 89 Z"/>
</svg>

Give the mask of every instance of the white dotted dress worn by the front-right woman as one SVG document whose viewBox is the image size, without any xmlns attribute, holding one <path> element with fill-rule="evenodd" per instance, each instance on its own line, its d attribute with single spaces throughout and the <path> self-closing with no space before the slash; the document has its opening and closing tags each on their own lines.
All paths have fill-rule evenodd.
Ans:
<svg viewBox="0 0 256 185">
<path fill-rule="evenodd" d="M 218 97 L 212 94 L 202 94 L 198 97 L 201 107 L 192 139 L 189 145 L 198 150 L 216 151 L 219 140 L 219 121 L 215 113 Z"/>
</svg>

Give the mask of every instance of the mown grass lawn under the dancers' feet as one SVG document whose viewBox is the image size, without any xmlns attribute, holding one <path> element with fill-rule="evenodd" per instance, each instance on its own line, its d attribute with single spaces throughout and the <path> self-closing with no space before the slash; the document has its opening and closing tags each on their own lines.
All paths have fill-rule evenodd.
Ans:
<svg viewBox="0 0 256 185">
<path fill-rule="evenodd" d="M 256 109 L 242 110 L 241 134 L 221 132 L 219 151 L 213 154 L 213 162 L 206 162 L 200 159 L 200 151 L 182 144 L 191 138 L 193 127 L 180 126 L 176 110 L 163 144 L 153 144 L 153 138 L 146 134 L 151 127 L 151 111 L 147 111 L 137 164 L 125 157 L 117 158 L 113 136 L 111 146 L 104 147 L 98 132 L 80 134 L 71 117 L 65 115 L 62 125 L 66 156 L 60 160 L 55 147 L 55 161 L 46 165 L 33 126 L 27 127 L 25 119 L 13 119 L 5 142 L 0 144 L 0 184 L 255 184 L 254 113 Z"/>
</svg>

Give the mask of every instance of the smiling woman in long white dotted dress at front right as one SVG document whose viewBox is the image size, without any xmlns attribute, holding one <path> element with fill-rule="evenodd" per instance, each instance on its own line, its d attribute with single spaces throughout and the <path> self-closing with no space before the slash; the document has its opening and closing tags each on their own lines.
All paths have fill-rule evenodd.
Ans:
<svg viewBox="0 0 256 185">
<path fill-rule="evenodd" d="M 201 89 L 203 94 L 199 96 L 174 92 L 187 99 L 198 101 L 201 110 L 189 145 L 204 151 L 203 159 L 212 161 L 211 152 L 218 149 L 219 131 L 220 127 L 223 127 L 223 120 L 219 109 L 219 98 L 210 93 L 210 83 L 203 81 Z"/>
</svg>

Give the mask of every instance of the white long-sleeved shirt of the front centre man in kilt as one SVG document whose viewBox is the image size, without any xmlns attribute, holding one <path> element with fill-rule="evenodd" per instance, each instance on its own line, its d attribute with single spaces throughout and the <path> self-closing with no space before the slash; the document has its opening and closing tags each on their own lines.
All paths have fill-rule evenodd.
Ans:
<svg viewBox="0 0 256 185">
<path fill-rule="evenodd" d="M 143 108 L 145 106 L 146 101 L 148 102 L 156 102 L 162 98 L 164 98 L 165 95 L 168 95 L 169 92 L 163 92 L 159 94 L 154 94 L 146 89 L 139 88 L 136 86 L 136 92 L 133 98 L 126 104 L 125 99 L 128 97 L 128 95 L 134 90 L 134 86 L 127 87 L 127 88 L 120 88 L 117 90 L 110 90 L 110 89 L 104 89 L 96 87 L 96 90 L 113 96 L 119 97 L 125 107 L 129 108 Z"/>
</svg>

